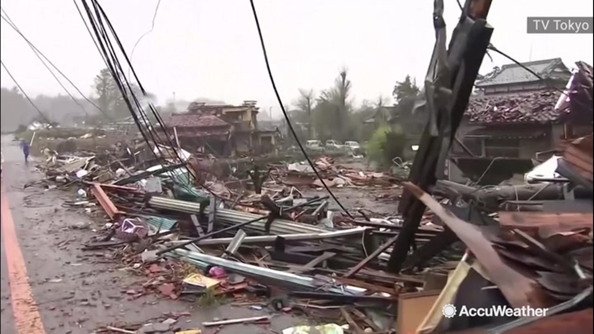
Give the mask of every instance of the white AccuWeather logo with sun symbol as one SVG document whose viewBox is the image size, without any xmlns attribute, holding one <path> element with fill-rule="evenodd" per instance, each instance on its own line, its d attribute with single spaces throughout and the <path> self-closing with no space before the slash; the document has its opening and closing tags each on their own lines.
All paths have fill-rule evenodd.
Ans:
<svg viewBox="0 0 594 334">
<path fill-rule="evenodd" d="M 445 304 L 441 308 L 446 318 L 458 317 L 545 317 L 548 308 L 534 308 L 530 306 L 508 307 L 507 305 L 493 305 L 491 307 L 466 307 L 460 310 L 452 304 Z"/>
</svg>

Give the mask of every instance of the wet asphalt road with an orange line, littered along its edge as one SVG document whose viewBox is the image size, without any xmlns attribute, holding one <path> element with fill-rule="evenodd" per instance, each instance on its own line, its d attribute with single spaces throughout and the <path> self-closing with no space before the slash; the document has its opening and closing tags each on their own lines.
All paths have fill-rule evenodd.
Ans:
<svg viewBox="0 0 594 334">
<path fill-rule="evenodd" d="M 89 216 L 81 210 L 62 207 L 64 200 L 71 196 L 65 191 L 44 190 L 37 185 L 24 189 L 24 184 L 42 175 L 34 171 L 33 163 L 25 165 L 12 136 L 2 136 L 1 142 L 5 159 L 2 202 L 10 208 L 2 207 L 2 334 L 88 334 L 100 326 L 144 323 L 169 312 L 191 314 L 179 323 L 183 329 L 199 328 L 202 322 L 214 318 L 268 314 L 230 305 L 204 309 L 197 304 L 156 295 L 131 300 L 126 291 L 139 286 L 143 278 L 118 270 L 114 263 L 100 255 L 82 251 L 81 245 L 93 232 L 69 226 L 89 222 Z M 14 225 L 14 240 L 7 234 L 7 227 L 11 225 Z M 17 253 L 22 253 L 22 259 Z M 21 269 L 19 264 L 22 264 Z M 24 277 L 19 278 L 15 273 Z M 27 301 L 27 291 L 34 301 Z M 34 326 L 36 310 L 39 310 L 42 328 Z M 240 324 L 225 326 L 218 333 L 271 333 L 271 329 L 280 332 L 304 323 L 307 319 L 284 314 L 274 317 L 270 327 Z M 203 333 L 212 332 L 203 330 Z"/>
</svg>

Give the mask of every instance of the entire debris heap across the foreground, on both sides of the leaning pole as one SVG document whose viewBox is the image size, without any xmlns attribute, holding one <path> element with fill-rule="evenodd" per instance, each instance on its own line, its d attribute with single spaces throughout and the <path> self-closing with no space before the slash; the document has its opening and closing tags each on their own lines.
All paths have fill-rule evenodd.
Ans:
<svg viewBox="0 0 594 334">
<path fill-rule="evenodd" d="M 581 152 L 582 146 L 568 147 Z M 140 285 L 126 290 L 128 298 L 156 294 L 268 313 L 214 320 L 204 328 L 268 326 L 274 314 L 293 312 L 334 319 L 337 324 L 327 326 L 336 332 L 346 328 L 341 324 L 352 332 L 452 329 L 463 325 L 448 322 L 441 309 L 471 303 L 469 294 L 480 296 L 472 303 L 557 310 L 557 304 L 577 303 L 592 290 L 591 200 L 589 213 L 504 211 L 510 204 L 522 209 L 542 201 L 551 192 L 560 194 L 553 201 L 563 206 L 567 190 L 555 182 L 511 191 L 439 181 L 432 188 L 437 200 L 405 182 L 428 210 L 413 233 L 418 249 L 407 256 L 403 273 L 395 274 L 390 261 L 406 219 L 328 210 L 328 196 L 307 198 L 295 183 L 287 187 L 291 178 L 315 178 L 299 163 L 269 169 L 270 180 L 258 194 L 239 193 L 210 174 L 196 177 L 189 163 L 136 169 L 128 161 L 100 166 L 97 156 L 50 157 L 40 165 L 48 175 L 43 182 L 75 186 L 76 200 L 69 204 L 107 219 L 83 249 L 105 251 L 141 278 Z M 402 187 L 386 174 L 350 171 L 329 158 L 316 165 L 323 177 L 343 179 L 346 187 Z M 587 163 L 579 166 L 587 170 Z M 492 288 L 477 288 L 484 286 Z M 424 316 L 407 315 L 421 300 L 430 301 L 418 310 Z M 165 329 L 163 321 L 150 325 Z M 133 332 L 145 326 L 103 330 Z"/>
</svg>

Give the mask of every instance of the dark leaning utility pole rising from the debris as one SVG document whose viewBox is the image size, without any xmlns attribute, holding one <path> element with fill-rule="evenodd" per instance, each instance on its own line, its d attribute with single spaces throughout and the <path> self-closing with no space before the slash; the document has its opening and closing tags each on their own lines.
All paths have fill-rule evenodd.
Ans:
<svg viewBox="0 0 594 334">
<path fill-rule="evenodd" d="M 466 0 L 460 21 L 454 29 L 450 45 L 445 49 L 443 0 L 434 2 L 435 47 L 425 78 L 424 107 L 429 111 L 421 144 L 416 152 L 409 181 L 429 191 L 438 178 L 443 178 L 445 159 L 466 111 L 470 93 L 493 29 L 486 22 L 492 0 Z M 405 222 L 399 235 L 388 242 L 394 245 L 388 270 L 400 272 L 410 248 L 415 247 L 415 232 L 425 212 L 425 204 L 405 190 L 399 211 Z M 431 257 L 454 241 L 449 229 L 416 250 L 412 257 Z M 387 243 L 388 243 L 387 242 Z M 451 243 L 451 242 L 450 242 Z M 389 247 L 389 245 L 388 245 Z M 386 247 L 387 248 L 387 247 Z"/>
</svg>

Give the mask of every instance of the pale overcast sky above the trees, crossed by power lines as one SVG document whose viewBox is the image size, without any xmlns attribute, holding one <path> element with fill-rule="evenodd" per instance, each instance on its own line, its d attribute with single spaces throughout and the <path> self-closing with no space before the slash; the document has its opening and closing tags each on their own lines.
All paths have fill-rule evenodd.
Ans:
<svg viewBox="0 0 594 334">
<path fill-rule="evenodd" d="M 461 0 L 464 2 L 463 0 Z M 128 53 L 150 29 L 157 0 L 100 1 Z M 424 78 L 434 45 L 431 0 L 256 0 L 271 66 L 283 101 L 298 89 L 321 90 L 349 69 L 360 103 L 391 96 L 394 81 Z M 459 8 L 445 0 L 448 35 Z M 84 93 L 92 93 L 102 59 L 71 0 L 2 0 L 15 24 Z M 519 61 L 561 57 L 592 64 L 591 34 L 527 34 L 527 16 L 592 16 L 588 0 L 494 0 L 492 43 Z M 2 21 L 2 61 L 31 95 L 63 93 L 26 42 Z M 450 36 L 448 36 L 450 37 Z M 482 72 L 508 63 L 485 58 Z M 160 103 L 197 97 L 280 109 L 268 80 L 248 0 L 162 0 L 154 30 L 132 59 Z M 2 70 L 1 84 L 14 84 Z"/>
</svg>

